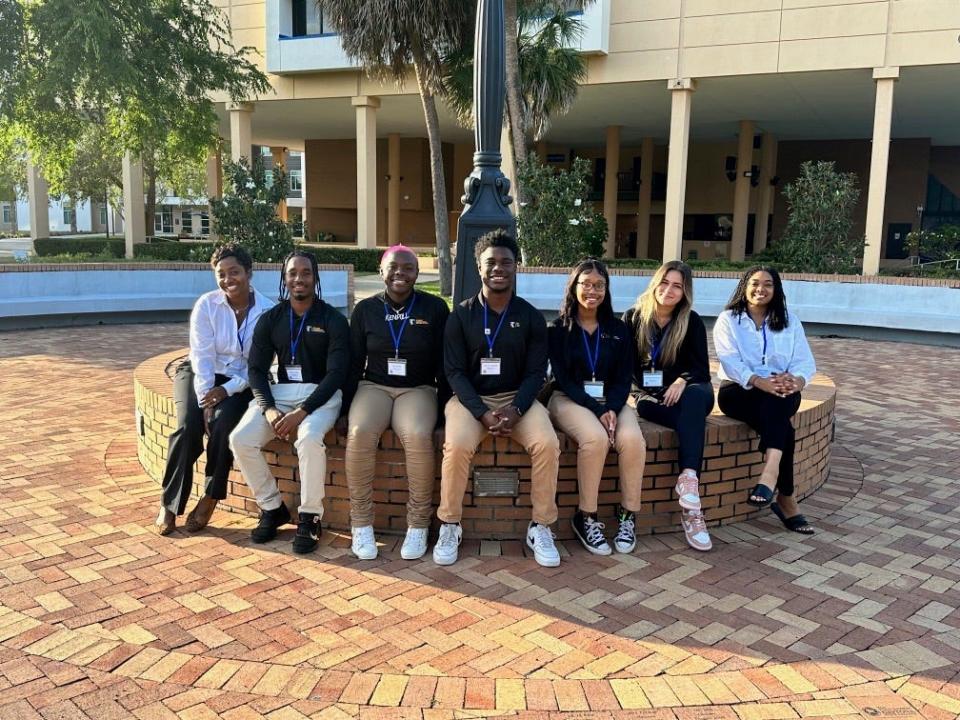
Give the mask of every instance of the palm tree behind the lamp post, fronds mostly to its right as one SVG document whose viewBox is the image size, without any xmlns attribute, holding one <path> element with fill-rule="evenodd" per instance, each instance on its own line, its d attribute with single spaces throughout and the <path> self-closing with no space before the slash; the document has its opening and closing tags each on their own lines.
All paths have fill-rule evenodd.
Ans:
<svg viewBox="0 0 960 720">
<path fill-rule="evenodd" d="M 590 2 L 575 4 L 583 7 Z M 527 158 L 528 135 L 542 139 L 551 119 L 570 109 L 580 83 L 586 79 L 586 60 L 572 47 L 580 38 L 582 26 L 567 14 L 571 6 L 556 0 L 519 0 L 519 4 L 518 0 L 504 1 L 506 115 L 514 162 Z M 473 121 L 472 48 L 458 48 L 447 57 L 447 64 L 447 103 L 457 120 L 469 127 Z M 523 189 L 517 187 L 516 193 L 522 200 Z"/>
</svg>

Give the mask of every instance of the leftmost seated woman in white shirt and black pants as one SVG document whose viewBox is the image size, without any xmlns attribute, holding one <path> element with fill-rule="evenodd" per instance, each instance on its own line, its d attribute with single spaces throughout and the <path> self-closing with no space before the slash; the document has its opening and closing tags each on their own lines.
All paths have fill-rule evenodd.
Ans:
<svg viewBox="0 0 960 720">
<path fill-rule="evenodd" d="M 190 358 L 177 368 L 173 401 L 177 429 L 170 436 L 157 527 L 176 528 L 193 488 L 193 465 L 207 434 L 204 495 L 187 516 L 186 529 L 206 527 L 218 500 L 227 496 L 233 464 L 229 437 L 253 399 L 247 384 L 247 356 L 253 329 L 273 303 L 250 285 L 253 260 L 239 245 L 223 245 L 210 258 L 219 290 L 201 295 L 190 314 Z"/>
</svg>

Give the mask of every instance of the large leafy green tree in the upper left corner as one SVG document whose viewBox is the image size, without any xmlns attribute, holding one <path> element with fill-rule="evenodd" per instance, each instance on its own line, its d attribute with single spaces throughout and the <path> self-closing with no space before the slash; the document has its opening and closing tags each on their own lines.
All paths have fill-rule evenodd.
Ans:
<svg viewBox="0 0 960 720">
<path fill-rule="evenodd" d="M 9 4 L 11 0 L 0 0 Z M 56 187 L 82 156 L 90 124 L 113 151 L 144 159 L 155 198 L 156 160 L 206 155 L 217 140 L 214 96 L 247 100 L 270 85 L 236 48 L 211 0 L 13 0 L 23 19 L 0 112 Z M 3 7 L 7 7 L 4 5 Z M 152 178 L 152 180 L 151 180 Z M 153 204 L 148 208 L 148 214 Z M 152 217 L 147 218 L 152 227 Z"/>
</svg>

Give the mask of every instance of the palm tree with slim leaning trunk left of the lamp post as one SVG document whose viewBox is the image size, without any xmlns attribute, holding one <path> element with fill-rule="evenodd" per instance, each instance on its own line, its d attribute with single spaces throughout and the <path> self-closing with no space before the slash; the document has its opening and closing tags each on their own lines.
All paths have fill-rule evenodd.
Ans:
<svg viewBox="0 0 960 720">
<path fill-rule="evenodd" d="M 473 6 L 463 0 L 317 0 L 317 9 L 340 34 L 343 49 L 371 77 L 402 86 L 413 70 L 430 144 L 440 292 L 447 296 L 453 292 L 453 272 L 435 98 L 443 89 L 444 55 L 470 36 Z"/>
</svg>

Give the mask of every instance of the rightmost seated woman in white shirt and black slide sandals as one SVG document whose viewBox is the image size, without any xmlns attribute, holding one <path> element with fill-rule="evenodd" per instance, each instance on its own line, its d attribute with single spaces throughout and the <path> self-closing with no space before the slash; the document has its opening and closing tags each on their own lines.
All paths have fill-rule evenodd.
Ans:
<svg viewBox="0 0 960 720">
<path fill-rule="evenodd" d="M 744 273 L 713 327 L 713 343 L 720 360 L 720 409 L 752 427 L 765 453 L 760 482 L 747 503 L 770 506 L 789 530 L 812 534 L 793 496 L 790 418 L 817 369 L 800 319 L 787 312 L 774 268 L 757 266 Z"/>
</svg>

